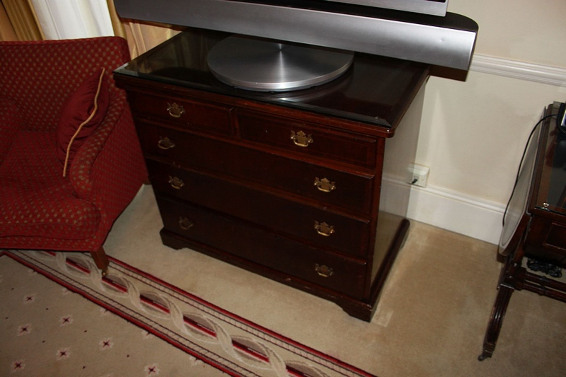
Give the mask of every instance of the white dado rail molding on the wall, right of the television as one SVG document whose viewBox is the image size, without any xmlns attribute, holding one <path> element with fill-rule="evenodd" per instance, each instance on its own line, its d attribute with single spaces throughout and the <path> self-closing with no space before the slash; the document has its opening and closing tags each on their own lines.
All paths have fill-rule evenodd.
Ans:
<svg viewBox="0 0 566 377">
<path fill-rule="evenodd" d="M 470 70 L 559 87 L 566 86 L 566 68 L 564 67 L 475 54 L 471 61 Z"/>
</svg>

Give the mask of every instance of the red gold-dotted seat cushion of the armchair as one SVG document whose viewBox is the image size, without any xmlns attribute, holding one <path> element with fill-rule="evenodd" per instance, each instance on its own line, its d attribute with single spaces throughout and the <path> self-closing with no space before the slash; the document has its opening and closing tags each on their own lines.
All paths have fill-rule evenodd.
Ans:
<svg viewBox="0 0 566 377">
<path fill-rule="evenodd" d="M 4 237 L 93 237 L 100 211 L 76 198 L 61 176 L 54 132 L 20 131 L 0 165 L 0 246 Z"/>
</svg>

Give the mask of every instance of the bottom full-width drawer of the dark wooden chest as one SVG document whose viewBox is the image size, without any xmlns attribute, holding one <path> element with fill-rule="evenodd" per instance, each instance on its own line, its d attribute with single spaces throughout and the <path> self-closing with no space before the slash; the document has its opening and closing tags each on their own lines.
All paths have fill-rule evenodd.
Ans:
<svg viewBox="0 0 566 377">
<path fill-rule="evenodd" d="M 157 196 L 165 229 L 250 262 L 361 298 L 366 264 L 327 254 L 231 216 Z M 319 275 L 316 269 L 327 277 Z"/>
</svg>

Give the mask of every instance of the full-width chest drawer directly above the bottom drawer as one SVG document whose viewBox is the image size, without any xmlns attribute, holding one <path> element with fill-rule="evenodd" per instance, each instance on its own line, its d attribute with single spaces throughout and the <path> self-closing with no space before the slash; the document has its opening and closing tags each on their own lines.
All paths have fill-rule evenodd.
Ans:
<svg viewBox="0 0 566 377">
<path fill-rule="evenodd" d="M 341 216 L 149 158 L 146 163 L 157 193 L 225 212 L 328 249 L 358 257 L 367 252 L 369 220 Z"/>
</svg>

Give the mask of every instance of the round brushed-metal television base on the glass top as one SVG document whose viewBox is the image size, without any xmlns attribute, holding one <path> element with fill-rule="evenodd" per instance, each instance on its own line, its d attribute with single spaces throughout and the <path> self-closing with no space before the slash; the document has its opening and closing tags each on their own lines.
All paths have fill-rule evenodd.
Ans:
<svg viewBox="0 0 566 377">
<path fill-rule="evenodd" d="M 221 82 L 251 91 L 292 91 L 328 83 L 344 74 L 354 54 L 231 36 L 208 53 L 208 68 Z"/>
</svg>

